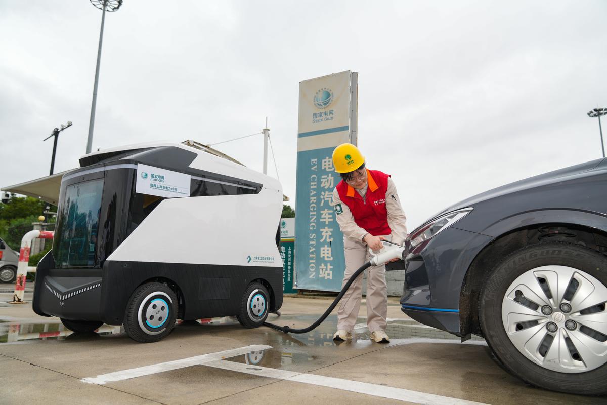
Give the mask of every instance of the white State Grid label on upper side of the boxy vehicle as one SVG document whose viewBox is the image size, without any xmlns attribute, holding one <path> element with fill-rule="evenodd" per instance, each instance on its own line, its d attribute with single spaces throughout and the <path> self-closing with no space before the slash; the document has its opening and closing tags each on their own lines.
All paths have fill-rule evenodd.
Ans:
<svg viewBox="0 0 607 405">
<path fill-rule="evenodd" d="M 190 175 L 137 163 L 135 191 L 169 199 L 189 197 Z"/>
</svg>

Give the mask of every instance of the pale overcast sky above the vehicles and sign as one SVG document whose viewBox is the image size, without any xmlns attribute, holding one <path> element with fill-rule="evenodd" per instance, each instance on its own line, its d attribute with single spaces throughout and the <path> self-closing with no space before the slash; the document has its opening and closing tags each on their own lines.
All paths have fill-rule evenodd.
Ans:
<svg viewBox="0 0 607 405">
<path fill-rule="evenodd" d="M 217 143 L 268 117 L 295 200 L 299 81 L 359 73 L 359 148 L 409 230 L 478 192 L 602 157 L 607 1 L 156 1 L 107 13 L 93 150 Z M 0 0 L 0 186 L 86 151 L 101 10 Z M 607 119 L 604 120 L 607 128 Z M 607 132 L 607 131 L 606 131 Z M 263 137 L 217 146 L 262 170 Z M 275 175 L 270 160 L 271 175 Z"/>
</svg>

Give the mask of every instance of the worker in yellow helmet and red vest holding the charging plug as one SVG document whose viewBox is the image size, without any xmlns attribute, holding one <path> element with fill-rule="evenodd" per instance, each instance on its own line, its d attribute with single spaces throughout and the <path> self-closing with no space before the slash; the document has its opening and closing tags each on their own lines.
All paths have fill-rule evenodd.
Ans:
<svg viewBox="0 0 607 405">
<path fill-rule="evenodd" d="M 333 151 L 333 165 L 342 177 L 333 190 L 333 206 L 337 223 L 344 234 L 343 287 L 354 271 L 369 259 L 368 248 L 380 250 L 381 240 L 402 245 L 407 236 L 407 218 L 390 175 L 365 168 L 365 159 L 356 146 L 350 143 L 337 146 Z M 388 311 L 385 264 L 370 267 L 367 271 L 367 327 L 371 339 L 389 342 L 390 338 L 385 333 Z M 358 277 L 342 298 L 334 340 L 343 341 L 352 337 L 361 296 L 362 277 Z"/>
</svg>

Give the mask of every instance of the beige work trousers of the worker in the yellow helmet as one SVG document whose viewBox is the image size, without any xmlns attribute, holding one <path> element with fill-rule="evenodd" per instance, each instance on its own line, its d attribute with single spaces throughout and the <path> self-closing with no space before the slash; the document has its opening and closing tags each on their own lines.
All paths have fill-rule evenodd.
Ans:
<svg viewBox="0 0 607 405">
<path fill-rule="evenodd" d="M 384 236 L 390 240 L 390 236 Z M 354 271 L 358 270 L 370 254 L 366 243 L 355 242 L 344 237 L 345 273 L 342 288 L 350 280 Z M 370 267 L 367 273 L 367 327 L 370 332 L 385 330 L 388 313 L 388 287 L 385 284 L 385 264 Z M 362 299 L 362 274 L 350 285 L 342 298 L 337 311 L 337 329 L 352 332 Z"/>
</svg>

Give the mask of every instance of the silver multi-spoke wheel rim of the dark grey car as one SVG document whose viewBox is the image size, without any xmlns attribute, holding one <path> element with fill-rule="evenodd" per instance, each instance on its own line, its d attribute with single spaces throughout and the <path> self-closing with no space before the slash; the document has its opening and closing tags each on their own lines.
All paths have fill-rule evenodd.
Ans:
<svg viewBox="0 0 607 405">
<path fill-rule="evenodd" d="M 606 301 L 607 287 L 591 274 L 543 266 L 509 285 L 501 318 L 510 342 L 527 359 L 549 370 L 582 373 L 607 362 Z"/>
</svg>

